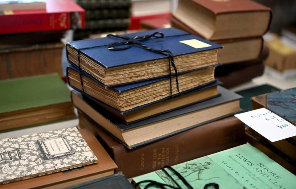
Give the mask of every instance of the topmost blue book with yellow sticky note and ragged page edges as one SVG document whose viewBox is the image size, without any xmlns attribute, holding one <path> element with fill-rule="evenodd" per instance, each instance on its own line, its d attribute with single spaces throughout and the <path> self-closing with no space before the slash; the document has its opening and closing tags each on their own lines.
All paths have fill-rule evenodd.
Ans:
<svg viewBox="0 0 296 189">
<path fill-rule="evenodd" d="M 106 88 L 196 70 L 217 64 L 221 45 L 175 28 L 73 41 L 68 61 Z M 159 51 L 165 50 L 165 51 Z"/>
</svg>

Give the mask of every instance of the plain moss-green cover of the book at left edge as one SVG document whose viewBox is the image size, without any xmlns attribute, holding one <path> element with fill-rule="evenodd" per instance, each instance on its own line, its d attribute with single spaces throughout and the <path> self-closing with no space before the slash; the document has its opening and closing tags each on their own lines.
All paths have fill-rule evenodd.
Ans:
<svg viewBox="0 0 296 189">
<path fill-rule="evenodd" d="M 0 113 L 71 102 L 70 91 L 58 74 L 0 81 Z"/>
</svg>

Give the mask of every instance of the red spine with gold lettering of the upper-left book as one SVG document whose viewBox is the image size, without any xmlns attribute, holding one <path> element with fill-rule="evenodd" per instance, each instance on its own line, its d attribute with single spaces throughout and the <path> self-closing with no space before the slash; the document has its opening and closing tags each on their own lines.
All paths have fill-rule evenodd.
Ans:
<svg viewBox="0 0 296 189">
<path fill-rule="evenodd" d="M 84 12 L 0 15 L 0 34 L 84 27 Z"/>
</svg>

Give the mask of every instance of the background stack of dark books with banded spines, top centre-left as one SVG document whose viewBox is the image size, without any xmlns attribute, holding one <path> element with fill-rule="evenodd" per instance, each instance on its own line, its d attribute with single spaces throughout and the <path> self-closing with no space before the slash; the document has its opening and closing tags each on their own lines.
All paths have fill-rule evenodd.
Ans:
<svg viewBox="0 0 296 189">
<path fill-rule="evenodd" d="M 101 32 L 126 30 L 130 26 L 131 0 L 75 0 L 85 9 L 85 27 L 74 32 L 74 39 Z"/>
</svg>

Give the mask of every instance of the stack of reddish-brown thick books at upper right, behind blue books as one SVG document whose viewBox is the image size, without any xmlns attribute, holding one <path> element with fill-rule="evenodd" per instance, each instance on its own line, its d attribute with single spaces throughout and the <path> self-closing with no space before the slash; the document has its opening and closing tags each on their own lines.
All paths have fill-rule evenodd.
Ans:
<svg viewBox="0 0 296 189">
<path fill-rule="evenodd" d="M 252 72 L 244 75 L 250 80 L 263 74 L 264 66 L 260 60 L 262 35 L 268 31 L 270 21 L 271 10 L 249 0 L 180 0 L 178 9 L 172 14 L 171 25 L 222 44 L 224 48 L 218 53 L 222 67 L 227 64 L 249 65 Z M 254 63 L 257 68 L 254 68 Z M 241 66 L 237 66 L 238 69 Z M 216 73 L 231 74 L 219 70 Z"/>
</svg>

